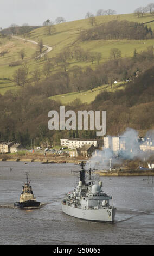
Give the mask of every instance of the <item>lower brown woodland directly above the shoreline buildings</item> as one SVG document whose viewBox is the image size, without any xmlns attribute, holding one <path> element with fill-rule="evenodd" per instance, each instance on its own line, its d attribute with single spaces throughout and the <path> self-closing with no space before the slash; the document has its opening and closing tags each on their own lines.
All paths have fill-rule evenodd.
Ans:
<svg viewBox="0 0 154 256">
<path fill-rule="evenodd" d="M 103 70 L 103 69 L 102 69 Z M 100 70 L 100 71 L 102 71 Z M 153 71 L 146 70 L 143 75 L 125 84 L 125 89 L 116 92 L 103 91 L 91 104 L 75 100 L 66 106 L 72 109 L 87 111 L 107 111 L 107 135 L 118 135 L 126 127 L 132 127 L 144 136 L 153 127 Z M 60 112 L 60 102 L 49 100 L 39 93 L 39 87 L 27 84 L 16 91 L 7 91 L 0 95 L 0 140 L 20 142 L 31 145 L 31 140 L 40 139 L 49 144 L 59 144 L 61 137 L 95 138 L 93 131 L 50 131 L 48 130 L 48 112 L 51 109 Z"/>
</svg>

